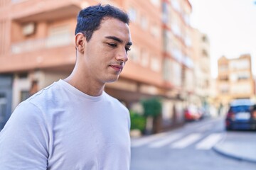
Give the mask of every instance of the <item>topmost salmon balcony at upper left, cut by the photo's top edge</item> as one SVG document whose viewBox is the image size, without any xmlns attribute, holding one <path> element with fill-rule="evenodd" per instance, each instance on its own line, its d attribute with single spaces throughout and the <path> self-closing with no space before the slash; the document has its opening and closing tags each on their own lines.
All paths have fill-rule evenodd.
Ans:
<svg viewBox="0 0 256 170">
<path fill-rule="evenodd" d="M 80 9 L 79 1 L 12 0 L 11 18 L 19 23 L 53 21 L 76 17 Z"/>
</svg>

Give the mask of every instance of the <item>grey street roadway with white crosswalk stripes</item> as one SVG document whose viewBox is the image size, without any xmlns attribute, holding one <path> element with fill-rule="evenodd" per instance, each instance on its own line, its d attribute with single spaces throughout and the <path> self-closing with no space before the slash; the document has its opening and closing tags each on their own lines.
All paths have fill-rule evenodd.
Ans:
<svg viewBox="0 0 256 170">
<path fill-rule="evenodd" d="M 131 170 L 256 169 L 253 162 L 225 157 L 213 150 L 213 146 L 228 133 L 234 138 L 241 134 L 226 132 L 223 121 L 223 118 L 211 118 L 186 123 L 169 132 L 133 138 Z M 256 132 L 249 134 L 255 136 Z"/>
</svg>

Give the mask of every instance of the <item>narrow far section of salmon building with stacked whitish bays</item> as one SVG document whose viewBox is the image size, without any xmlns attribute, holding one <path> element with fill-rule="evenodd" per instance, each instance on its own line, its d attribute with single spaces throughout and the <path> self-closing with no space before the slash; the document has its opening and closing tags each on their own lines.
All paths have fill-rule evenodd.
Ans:
<svg viewBox="0 0 256 170">
<path fill-rule="evenodd" d="M 194 93 L 191 9 L 187 0 L 162 1 L 162 77 L 171 98 L 164 103 L 163 122 L 171 125 L 183 121 L 183 108 Z"/>
</svg>

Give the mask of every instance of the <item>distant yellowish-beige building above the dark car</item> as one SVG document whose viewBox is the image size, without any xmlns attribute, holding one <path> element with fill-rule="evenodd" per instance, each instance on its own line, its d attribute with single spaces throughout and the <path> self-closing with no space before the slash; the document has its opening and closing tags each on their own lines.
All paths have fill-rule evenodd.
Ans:
<svg viewBox="0 0 256 170">
<path fill-rule="evenodd" d="M 218 101 L 224 105 L 233 99 L 255 97 L 250 55 L 235 59 L 220 57 L 218 60 Z"/>
</svg>

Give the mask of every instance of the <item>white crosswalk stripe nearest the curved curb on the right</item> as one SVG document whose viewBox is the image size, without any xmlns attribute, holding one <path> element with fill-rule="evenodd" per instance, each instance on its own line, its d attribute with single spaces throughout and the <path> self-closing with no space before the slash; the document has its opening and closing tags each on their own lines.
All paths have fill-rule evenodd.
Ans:
<svg viewBox="0 0 256 170">
<path fill-rule="evenodd" d="M 222 138 L 222 134 L 213 133 L 206 137 L 206 139 L 196 145 L 196 149 L 210 149 L 212 148 L 220 139 Z"/>
</svg>

